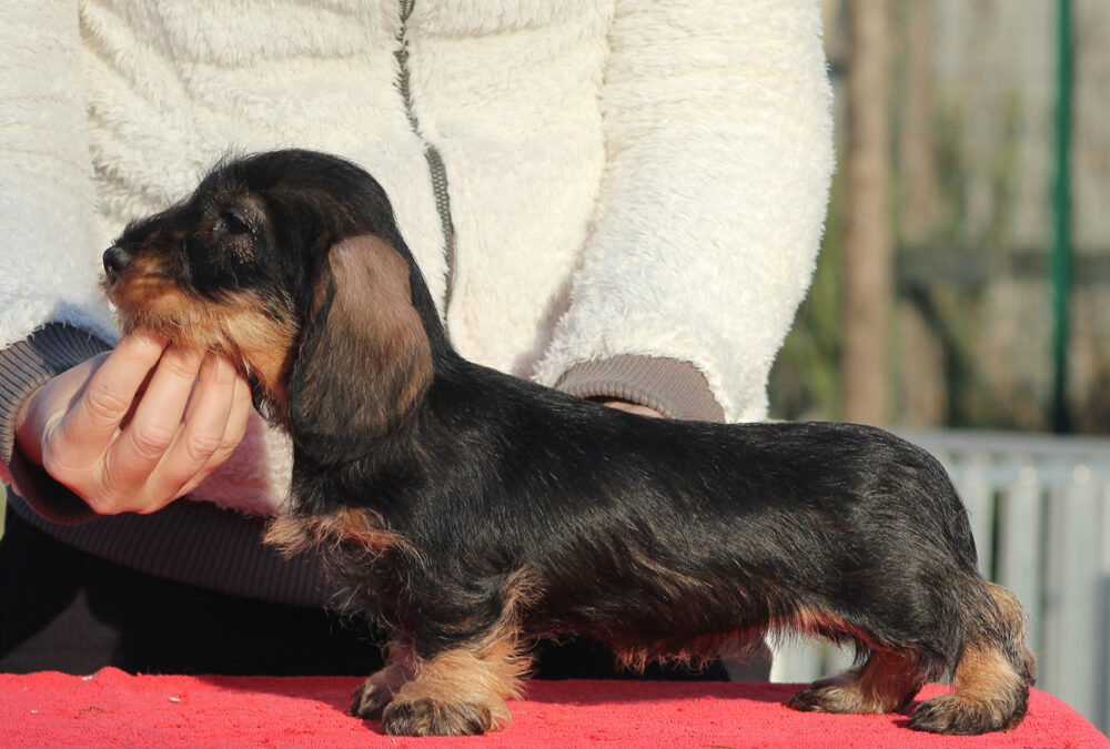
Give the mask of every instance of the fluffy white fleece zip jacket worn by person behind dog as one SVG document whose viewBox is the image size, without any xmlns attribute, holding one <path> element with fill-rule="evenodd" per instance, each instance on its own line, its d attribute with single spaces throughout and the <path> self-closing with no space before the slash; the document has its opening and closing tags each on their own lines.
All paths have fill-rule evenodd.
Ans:
<svg viewBox="0 0 1110 749">
<path fill-rule="evenodd" d="M 127 221 L 295 145 L 382 182 L 464 356 L 549 385 L 674 358 L 761 418 L 834 163 L 818 4 L 0 0 L 0 348 L 112 341 Z M 245 509 L 270 463 L 222 472 Z"/>
</svg>

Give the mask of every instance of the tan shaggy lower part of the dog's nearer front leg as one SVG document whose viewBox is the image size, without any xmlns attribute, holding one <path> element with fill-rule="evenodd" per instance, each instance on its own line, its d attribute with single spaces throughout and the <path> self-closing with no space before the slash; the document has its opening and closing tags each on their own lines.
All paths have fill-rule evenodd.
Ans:
<svg viewBox="0 0 1110 749">
<path fill-rule="evenodd" d="M 505 700 L 519 695 L 527 659 L 515 637 L 501 636 L 413 656 L 412 666 L 412 678 L 385 706 L 382 728 L 393 736 L 462 736 L 508 722 Z"/>
</svg>

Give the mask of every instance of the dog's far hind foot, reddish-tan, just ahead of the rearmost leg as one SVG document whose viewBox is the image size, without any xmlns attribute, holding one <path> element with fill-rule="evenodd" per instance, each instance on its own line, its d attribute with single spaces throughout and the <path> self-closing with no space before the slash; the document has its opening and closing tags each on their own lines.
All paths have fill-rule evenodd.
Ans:
<svg viewBox="0 0 1110 749">
<path fill-rule="evenodd" d="M 927 678 L 918 652 L 875 648 L 862 666 L 813 682 L 787 706 L 815 712 L 892 712 L 909 702 Z"/>
</svg>

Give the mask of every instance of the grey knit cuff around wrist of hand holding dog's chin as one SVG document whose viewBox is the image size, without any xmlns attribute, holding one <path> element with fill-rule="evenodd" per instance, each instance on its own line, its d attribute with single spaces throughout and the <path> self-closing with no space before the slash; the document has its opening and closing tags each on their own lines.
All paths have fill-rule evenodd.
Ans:
<svg viewBox="0 0 1110 749">
<path fill-rule="evenodd" d="M 0 473 L 37 513 L 56 523 L 81 523 L 94 513 L 40 466 L 23 459 L 16 449 L 16 417 L 27 398 L 52 377 L 110 347 L 80 328 L 49 323 L 0 351 Z"/>
</svg>

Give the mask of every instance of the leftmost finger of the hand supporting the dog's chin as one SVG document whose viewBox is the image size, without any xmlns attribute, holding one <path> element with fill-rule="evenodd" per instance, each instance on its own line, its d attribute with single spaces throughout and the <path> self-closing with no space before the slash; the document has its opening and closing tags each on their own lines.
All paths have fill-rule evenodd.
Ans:
<svg viewBox="0 0 1110 749">
<path fill-rule="evenodd" d="M 51 474 L 88 470 L 102 459 L 164 347 L 164 342 L 144 335 L 127 336 L 99 363 L 72 407 L 49 429 L 54 465 L 46 467 Z"/>
</svg>

